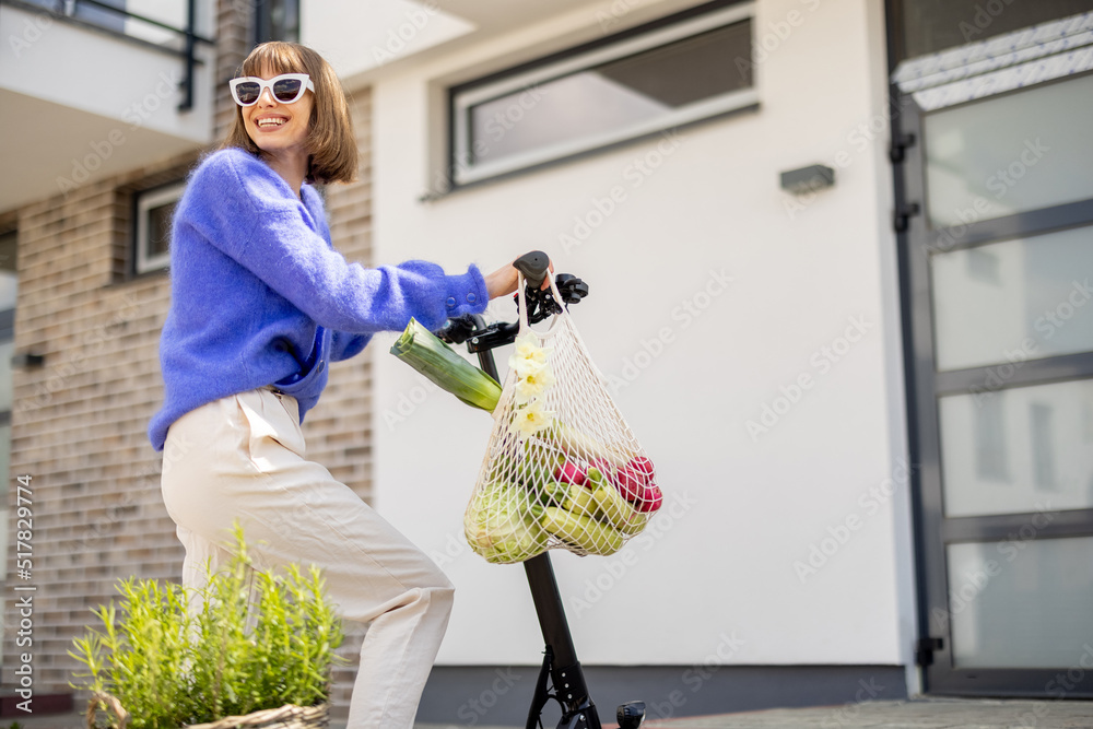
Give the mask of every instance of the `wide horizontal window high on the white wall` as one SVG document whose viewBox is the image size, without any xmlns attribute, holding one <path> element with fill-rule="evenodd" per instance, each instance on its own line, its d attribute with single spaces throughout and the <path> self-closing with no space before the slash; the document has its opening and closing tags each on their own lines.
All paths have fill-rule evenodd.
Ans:
<svg viewBox="0 0 1093 729">
<path fill-rule="evenodd" d="M 451 185 L 753 106 L 753 4 L 717 4 L 451 89 Z"/>
</svg>

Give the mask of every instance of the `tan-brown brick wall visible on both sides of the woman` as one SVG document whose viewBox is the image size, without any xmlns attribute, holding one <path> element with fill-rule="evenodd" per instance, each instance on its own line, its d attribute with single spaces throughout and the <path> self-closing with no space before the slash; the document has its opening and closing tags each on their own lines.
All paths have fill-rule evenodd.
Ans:
<svg viewBox="0 0 1093 729">
<path fill-rule="evenodd" d="M 250 0 L 221 0 L 218 13 L 216 139 L 234 115 L 230 79 L 249 48 Z M 325 193 L 334 245 L 371 262 L 371 94 L 352 99 L 360 180 Z M 198 153 L 57 196 L 5 214 L 19 230 L 16 352 L 45 356 L 14 373 L 12 467 L 32 475 L 35 693 L 67 693 L 73 636 L 90 608 L 116 595 L 118 578 L 177 580 L 183 549 L 158 491 L 162 456 L 145 436 L 162 403 L 158 340 L 169 305 L 166 273 L 133 278 L 132 200 L 183 177 Z M 371 372 L 366 357 L 336 364 L 305 423 L 309 457 L 362 497 L 371 496 Z M 15 502 L 14 489 L 9 506 Z M 14 534 L 14 513 L 10 519 Z M 9 560 L 9 585 L 16 581 Z M 19 615 L 7 591 L 4 673 L 11 675 Z M 350 633 L 338 671 L 334 714 L 344 716 L 362 631 Z M 20 648 L 19 650 L 26 650 Z"/>
</svg>

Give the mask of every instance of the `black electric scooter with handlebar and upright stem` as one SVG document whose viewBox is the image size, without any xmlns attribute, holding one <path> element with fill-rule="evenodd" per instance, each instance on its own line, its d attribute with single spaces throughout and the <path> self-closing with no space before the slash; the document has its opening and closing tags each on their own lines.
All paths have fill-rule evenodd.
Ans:
<svg viewBox="0 0 1093 729">
<path fill-rule="evenodd" d="M 538 250 L 525 254 L 513 262 L 524 274 L 527 284 L 525 299 L 529 324 L 537 324 L 562 313 L 553 293 L 540 290 L 546 278 L 549 263 L 546 254 Z M 554 281 L 566 307 L 579 303 L 588 295 L 588 284 L 574 275 L 559 273 Z M 498 321 L 487 326 L 481 316 L 473 314 L 448 319 L 436 333 L 451 344 L 466 343 L 467 350 L 478 355 L 482 371 L 501 381 L 493 350 L 512 344 L 519 329 L 519 321 Z M 527 560 L 524 568 L 546 644 L 542 668 L 531 697 L 531 708 L 528 710 L 527 729 L 542 729 L 542 712 L 551 699 L 562 707 L 557 729 L 602 729 L 596 705 L 588 694 L 577 651 L 573 647 L 573 636 L 557 591 L 550 553 L 543 552 Z M 636 729 L 645 720 L 645 703 L 627 702 L 619 706 L 616 719 L 620 729 Z"/>
</svg>

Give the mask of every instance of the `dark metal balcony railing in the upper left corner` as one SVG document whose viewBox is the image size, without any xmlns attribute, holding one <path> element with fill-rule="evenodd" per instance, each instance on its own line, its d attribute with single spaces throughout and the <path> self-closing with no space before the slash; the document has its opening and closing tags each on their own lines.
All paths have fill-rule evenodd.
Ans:
<svg viewBox="0 0 1093 729">
<path fill-rule="evenodd" d="M 214 43 L 212 38 L 198 35 L 195 30 L 197 0 L 185 0 L 183 4 L 155 3 L 157 8 L 169 5 L 176 14 L 185 15 L 178 20 L 183 27 L 130 12 L 126 8 L 126 0 L 113 0 L 113 2 L 102 0 L 0 0 L 0 4 L 9 4 L 35 12 L 45 10 L 55 20 L 104 31 L 178 56 L 183 60 L 184 68 L 183 80 L 179 82 L 183 98 L 178 103 L 178 110 L 188 111 L 193 108 L 193 70 L 201 62 L 197 57 L 197 45 L 199 43 L 207 45 Z"/>
</svg>

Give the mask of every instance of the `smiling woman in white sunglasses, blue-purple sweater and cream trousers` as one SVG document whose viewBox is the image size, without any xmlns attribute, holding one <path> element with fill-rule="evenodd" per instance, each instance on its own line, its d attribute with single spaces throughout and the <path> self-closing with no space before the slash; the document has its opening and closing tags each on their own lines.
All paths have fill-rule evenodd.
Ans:
<svg viewBox="0 0 1093 729">
<path fill-rule="evenodd" d="M 230 557 L 238 519 L 259 569 L 314 563 L 340 614 L 371 623 L 349 727 L 410 728 L 447 626 L 453 586 L 406 537 L 318 463 L 301 421 L 330 362 L 410 317 L 431 329 L 516 289 L 516 269 L 445 275 L 432 263 L 364 269 L 334 251 L 309 181 L 353 179 L 341 85 L 315 51 L 258 46 L 231 82 L 223 148 L 190 176 L 175 213 L 165 403 L 149 437 L 186 546 L 184 584 Z"/>
</svg>

